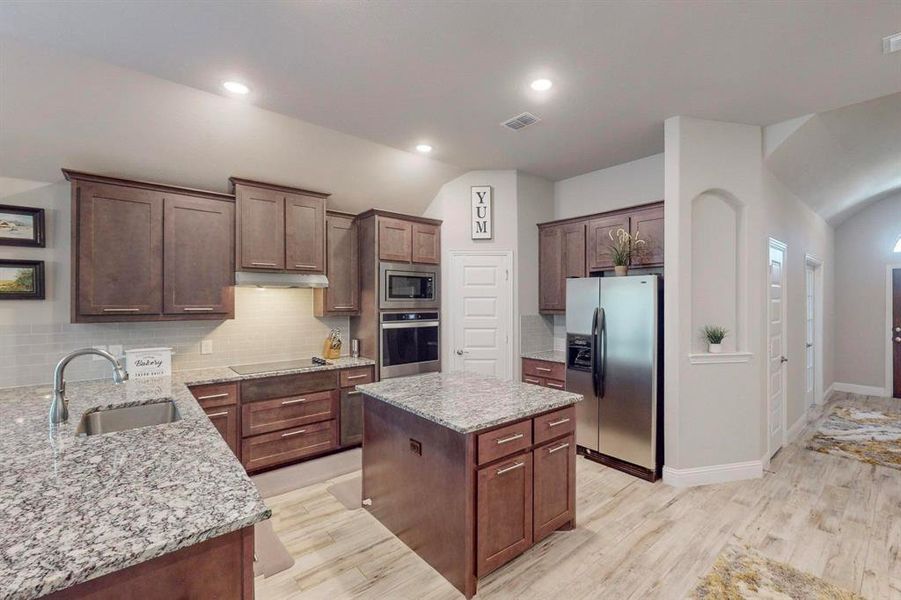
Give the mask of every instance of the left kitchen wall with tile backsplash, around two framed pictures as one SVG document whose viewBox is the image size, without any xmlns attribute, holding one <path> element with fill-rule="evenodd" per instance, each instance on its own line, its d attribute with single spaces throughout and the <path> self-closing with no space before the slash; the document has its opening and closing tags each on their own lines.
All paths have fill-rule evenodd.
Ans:
<svg viewBox="0 0 901 600">
<path fill-rule="evenodd" d="M 47 226 L 45 248 L 0 246 L 3 258 L 43 260 L 46 280 L 45 300 L 0 301 L 0 387 L 49 383 L 57 361 L 85 346 L 170 346 L 173 367 L 192 369 L 321 354 L 331 328 L 348 339 L 347 317 L 313 316 L 312 290 L 237 288 L 235 318 L 227 321 L 72 324 L 69 185 L 0 178 L 0 204 L 44 208 Z M 203 340 L 212 342 L 211 354 L 200 353 Z M 95 379 L 109 372 L 105 361 L 81 358 L 66 375 Z"/>
</svg>

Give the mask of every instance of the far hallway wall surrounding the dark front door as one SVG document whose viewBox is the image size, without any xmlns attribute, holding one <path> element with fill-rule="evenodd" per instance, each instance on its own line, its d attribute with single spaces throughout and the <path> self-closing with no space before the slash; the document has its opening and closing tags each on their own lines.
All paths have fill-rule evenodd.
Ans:
<svg viewBox="0 0 901 600">
<path fill-rule="evenodd" d="M 886 267 L 901 235 L 901 193 L 876 202 L 835 230 L 835 380 L 886 386 Z M 885 391 L 891 395 L 891 389 Z"/>
</svg>

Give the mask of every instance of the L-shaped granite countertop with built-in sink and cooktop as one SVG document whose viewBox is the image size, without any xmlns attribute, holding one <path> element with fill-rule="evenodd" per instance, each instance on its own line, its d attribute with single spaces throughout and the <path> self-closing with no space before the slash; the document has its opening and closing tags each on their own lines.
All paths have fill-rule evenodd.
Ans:
<svg viewBox="0 0 901 600">
<path fill-rule="evenodd" d="M 265 374 L 67 382 L 69 422 L 48 425 L 52 386 L 0 389 L 0 598 L 36 598 L 268 519 L 269 508 L 188 385 Z M 76 436 L 92 408 L 172 399 L 174 423 Z"/>
</svg>

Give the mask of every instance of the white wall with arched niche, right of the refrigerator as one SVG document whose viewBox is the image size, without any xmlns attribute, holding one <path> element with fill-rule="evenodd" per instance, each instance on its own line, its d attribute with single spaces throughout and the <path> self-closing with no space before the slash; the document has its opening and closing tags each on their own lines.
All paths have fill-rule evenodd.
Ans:
<svg viewBox="0 0 901 600">
<path fill-rule="evenodd" d="M 665 436 L 669 478 L 677 481 L 693 469 L 712 467 L 716 471 L 722 465 L 734 468 L 705 476 L 759 475 L 768 443 L 768 238 L 788 244 L 786 427 L 791 427 L 804 410 L 807 254 L 824 265 L 824 389 L 833 379 L 832 229 L 767 171 L 760 127 L 673 117 L 666 121 L 665 144 Z M 705 233 L 709 227 L 696 226 L 695 210 L 710 195 L 728 199 L 736 206 L 739 226 L 734 239 L 731 234 L 720 239 L 721 232 Z M 720 221 L 731 227 L 731 218 Z M 693 260 L 698 258 L 696 246 L 717 240 L 723 248 L 736 249 L 734 264 L 724 252 L 723 264 L 697 268 Z M 723 269 L 728 271 L 725 276 Z M 702 364 L 701 360 L 711 357 L 697 356 L 696 329 L 705 315 L 725 314 L 722 304 L 729 295 L 721 288 L 733 279 L 737 294 L 730 310 L 735 316 L 718 318 L 734 319 L 735 347 L 730 349 L 738 354 L 730 358 L 743 362 Z"/>
</svg>

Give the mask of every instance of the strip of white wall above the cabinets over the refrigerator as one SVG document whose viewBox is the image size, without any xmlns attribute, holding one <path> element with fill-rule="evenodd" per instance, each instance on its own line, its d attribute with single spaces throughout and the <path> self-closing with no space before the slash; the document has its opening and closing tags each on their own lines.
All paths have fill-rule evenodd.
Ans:
<svg viewBox="0 0 901 600">
<path fill-rule="evenodd" d="M 663 199 L 663 154 L 554 183 L 554 218 L 628 208 Z"/>
</svg>

